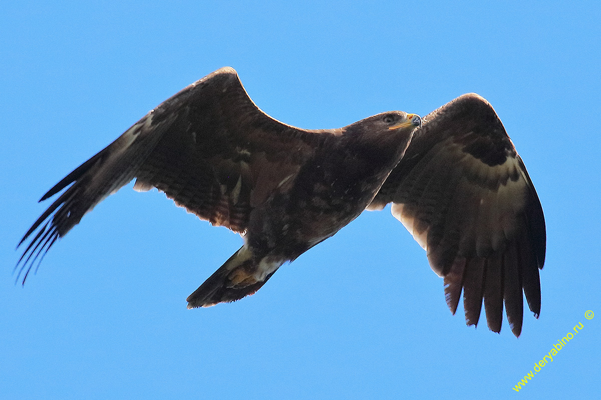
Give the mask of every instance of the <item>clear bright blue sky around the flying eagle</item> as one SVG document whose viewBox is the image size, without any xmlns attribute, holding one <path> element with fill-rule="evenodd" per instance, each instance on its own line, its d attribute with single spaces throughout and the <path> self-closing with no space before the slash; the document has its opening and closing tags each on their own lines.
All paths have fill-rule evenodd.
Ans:
<svg viewBox="0 0 601 400">
<path fill-rule="evenodd" d="M 601 392 L 599 1 L 8 0 L 1 14 L 0 398 Z M 426 115 L 466 92 L 487 98 L 545 210 L 540 318 L 525 311 L 519 339 L 506 319 L 500 335 L 484 315 L 466 327 L 389 209 L 362 214 L 255 296 L 188 310 L 186 296 L 242 239 L 131 185 L 14 285 L 14 246 L 49 205 L 41 195 L 225 65 L 261 109 L 303 128 L 386 110 Z M 577 323 L 584 329 L 515 392 Z"/>
</svg>

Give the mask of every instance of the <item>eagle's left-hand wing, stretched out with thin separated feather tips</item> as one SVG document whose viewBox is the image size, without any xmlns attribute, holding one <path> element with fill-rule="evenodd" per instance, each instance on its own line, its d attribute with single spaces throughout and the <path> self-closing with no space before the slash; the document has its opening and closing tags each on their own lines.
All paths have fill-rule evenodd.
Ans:
<svg viewBox="0 0 601 400">
<path fill-rule="evenodd" d="M 17 279 L 25 271 L 25 282 L 34 261 L 133 178 L 136 190 L 156 187 L 199 218 L 242 233 L 251 210 L 293 181 L 328 134 L 271 118 L 236 71 L 221 68 L 163 101 L 44 194 L 40 201 L 59 196 L 21 239 Z"/>
</svg>

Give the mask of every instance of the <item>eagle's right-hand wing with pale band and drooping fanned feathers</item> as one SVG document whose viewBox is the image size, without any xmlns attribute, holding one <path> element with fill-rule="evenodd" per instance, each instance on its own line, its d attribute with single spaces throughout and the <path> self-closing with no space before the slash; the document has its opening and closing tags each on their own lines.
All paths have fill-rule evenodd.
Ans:
<svg viewBox="0 0 601 400">
<path fill-rule="evenodd" d="M 488 326 L 499 332 L 504 300 L 519 336 L 522 289 L 538 317 L 543 210 L 522 159 L 484 98 L 463 95 L 424 118 L 368 209 L 388 203 L 426 249 L 432 269 L 444 276 L 453 313 L 463 288 L 468 325 L 478 323 L 484 299 Z"/>
</svg>

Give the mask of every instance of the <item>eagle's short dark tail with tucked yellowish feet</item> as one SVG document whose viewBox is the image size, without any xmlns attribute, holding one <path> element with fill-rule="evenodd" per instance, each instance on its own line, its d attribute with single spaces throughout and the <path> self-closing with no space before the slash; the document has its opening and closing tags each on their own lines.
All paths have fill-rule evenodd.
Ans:
<svg viewBox="0 0 601 400">
<path fill-rule="evenodd" d="M 284 262 L 269 256 L 255 257 L 251 249 L 242 246 L 188 296 L 188 308 L 234 302 L 254 294 Z"/>
</svg>

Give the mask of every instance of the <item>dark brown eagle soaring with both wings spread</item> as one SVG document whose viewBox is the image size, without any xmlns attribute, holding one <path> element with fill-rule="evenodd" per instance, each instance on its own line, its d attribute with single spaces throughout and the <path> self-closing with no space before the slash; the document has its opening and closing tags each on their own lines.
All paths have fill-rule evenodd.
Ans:
<svg viewBox="0 0 601 400">
<path fill-rule="evenodd" d="M 453 314 L 462 291 L 468 325 L 477 325 L 484 303 L 489 329 L 500 332 L 505 305 L 519 336 L 522 291 L 540 314 L 543 210 L 495 110 L 477 94 L 424 118 L 391 111 L 305 130 L 264 113 L 236 71 L 221 68 L 159 104 L 41 197 L 59 194 L 17 246 L 25 247 L 17 280 L 25 284 L 59 237 L 134 178 L 135 190 L 157 188 L 244 239 L 188 297 L 188 308 L 254 294 L 282 264 L 364 210 L 391 203 L 444 278 Z"/>
</svg>

